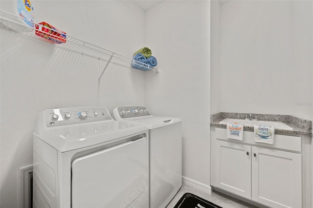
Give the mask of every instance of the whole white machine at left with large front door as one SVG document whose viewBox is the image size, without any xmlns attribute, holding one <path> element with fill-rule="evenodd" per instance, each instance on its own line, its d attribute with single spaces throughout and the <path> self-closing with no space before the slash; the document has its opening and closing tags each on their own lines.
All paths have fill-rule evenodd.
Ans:
<svg viewBox="0 0 313 208">
<path fill-rule="evenodd" d="M 34 131 L 34 208 L 148 208 L 148 128 L 103 107 L 48 109 Z"/>
</svg>

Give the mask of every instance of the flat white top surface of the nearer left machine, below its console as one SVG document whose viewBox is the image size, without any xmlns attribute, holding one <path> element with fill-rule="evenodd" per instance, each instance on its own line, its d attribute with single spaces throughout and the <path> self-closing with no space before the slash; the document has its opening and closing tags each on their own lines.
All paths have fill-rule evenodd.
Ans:
<svg viewBox="0 0 313 208">
<path fill-rule="evenodd" d="M 45 143 L 60 152 L 66 152 L 86 146 L 97 145 L 148 130 L 144 125 L 118 122 L 114 120 L 87 124 L 40 128 L 39 137 Z"/>
</svg>

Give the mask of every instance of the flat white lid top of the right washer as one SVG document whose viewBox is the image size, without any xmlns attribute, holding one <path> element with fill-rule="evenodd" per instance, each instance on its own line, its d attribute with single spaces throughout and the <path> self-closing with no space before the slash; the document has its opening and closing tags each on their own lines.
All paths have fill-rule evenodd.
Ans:
<svg viewBox="0 0 313 208">
<path fill-rule="evenodd" d="M 162 116 L 142 116 L 138 118 L 123 119 L 125 122 L 133 124 L 142 124 L 149 129 L 160 128 L 167 125 L 177 124 L 181 122 L 179 118 L 162 117 Z"/>
</svg>

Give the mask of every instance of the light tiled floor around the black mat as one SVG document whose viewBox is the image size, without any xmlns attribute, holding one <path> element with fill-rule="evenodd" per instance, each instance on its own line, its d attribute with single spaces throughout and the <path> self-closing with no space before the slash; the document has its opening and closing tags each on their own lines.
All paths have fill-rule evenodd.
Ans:
<svg viewBox="0 0 313 208">
<path fill-rule="evenodd" d="M 222 193 L 213 191 L 212 195 L 210 195 L 208 193 L 205 193 L 201 189 L 191 187 L 188 185 L 182 185 L 182 187 L 179 189 L 179 192 L 176 194 L 176 196 L 173 198 L 173 200 L 168 204 L 166 208 L 174 208 L 174 206 L 182 197 L 182 195 L 187 192 L 195 194 L 223 208 L 256 208 L 255 206 L 234 199 Z"/>
</svg>

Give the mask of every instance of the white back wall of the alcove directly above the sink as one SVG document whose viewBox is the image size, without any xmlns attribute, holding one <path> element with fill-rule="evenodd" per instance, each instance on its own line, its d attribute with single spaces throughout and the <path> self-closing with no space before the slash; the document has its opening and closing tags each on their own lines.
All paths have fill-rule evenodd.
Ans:
<svg viewBox="0 0 313 208">
<path fill-rule="evenodd" d="M 291 1 L 222 4 L 220 40 L 221 111 L 288 113 Z"/>
</svg>

